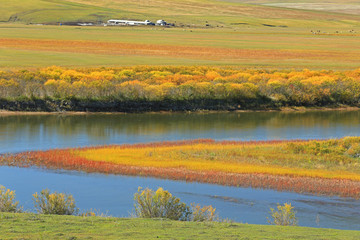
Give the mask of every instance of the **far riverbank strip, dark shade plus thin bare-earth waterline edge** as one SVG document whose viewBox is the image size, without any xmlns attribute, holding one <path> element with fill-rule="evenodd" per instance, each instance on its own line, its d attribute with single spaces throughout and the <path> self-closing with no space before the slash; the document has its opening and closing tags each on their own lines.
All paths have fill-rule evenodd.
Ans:
<svg viewBox="0 0 360 240">
<path fill-rule="evenodd" d="M 81 100 L 33 100 L 8 101 L 0 100 L 0 116 L 3 115 L 51 115 L 51 114 L 123 114 L 123 113 L 222 113 L 222 112 L 309 112 L 309 111 L 357 111 L 359 106 L 325 105 L 325 106 L 254 106 L 241 107 L 236 102 L 212 100 L 199 101 L 133 101 L 102 102 Z"/>
</svg>

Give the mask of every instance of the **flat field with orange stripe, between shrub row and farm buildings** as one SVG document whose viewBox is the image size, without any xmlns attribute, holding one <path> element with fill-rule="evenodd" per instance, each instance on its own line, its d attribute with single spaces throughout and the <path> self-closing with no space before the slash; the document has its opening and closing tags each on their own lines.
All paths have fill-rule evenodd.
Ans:
<svg viewBox="0 0 360 240">
<path fill-rule="evenodd" d="M 360 28 L 242 26 L 237 29 L 0 24 L 0 68 L 232 65 L 354 69 Z M 359 30 L 359 31 L 358 31 Z M 313 32 L 311 32 L 313 31 Z"/>
</svg>

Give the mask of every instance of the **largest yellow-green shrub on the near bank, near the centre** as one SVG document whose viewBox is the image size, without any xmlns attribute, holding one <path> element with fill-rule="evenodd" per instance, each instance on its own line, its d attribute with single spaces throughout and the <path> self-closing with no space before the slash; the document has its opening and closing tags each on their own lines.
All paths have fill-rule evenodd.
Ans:
<svg viewBox="0 0 360 240">
<path fill-rule="evenodd" d="M 140 218 L 168 218 L 188 221 L 190 208 L 179 198 L 159 188 L 156 191 L 139 188 L 134 194 L 135 216 Z"/>
</svg>

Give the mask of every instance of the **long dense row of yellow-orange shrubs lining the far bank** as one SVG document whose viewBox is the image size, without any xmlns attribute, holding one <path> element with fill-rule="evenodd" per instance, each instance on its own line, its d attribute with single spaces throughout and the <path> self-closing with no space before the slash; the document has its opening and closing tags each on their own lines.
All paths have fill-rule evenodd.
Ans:
<svg viewBox="0 0 360 240">
<path fill-rule="evenodd" d="M 136 66 L 1 72 L 0 99 L 229 100 L 266 106 L 360 104 L 359 70 Z M 251 106 L 250 106 L 251 107 Z"/>
</svg>

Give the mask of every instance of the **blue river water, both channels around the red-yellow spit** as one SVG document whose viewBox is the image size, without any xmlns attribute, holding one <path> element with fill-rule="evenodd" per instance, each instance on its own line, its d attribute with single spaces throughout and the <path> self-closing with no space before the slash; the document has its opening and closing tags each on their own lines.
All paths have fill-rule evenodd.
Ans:
<svg viewBox="0 0 360 240">
<path fill-rule="evenodd" d="M 0 154 L 51 148 L 171 141 L 324 139 L 360 136 L 360 111 L 89 115 L 0 115 Z M 213 205 L 223 218 L 266 224 L 291 202 L 299 225 L 360 230 L 360 201 L 142 177 L 0 167 L 0 185 L 32 209 L 41 189 L 73 194 L 80 209 L 129 216 L 139 186 L 163 187 L 184 202 Z"/>
</svg>

